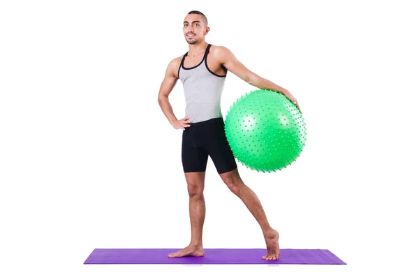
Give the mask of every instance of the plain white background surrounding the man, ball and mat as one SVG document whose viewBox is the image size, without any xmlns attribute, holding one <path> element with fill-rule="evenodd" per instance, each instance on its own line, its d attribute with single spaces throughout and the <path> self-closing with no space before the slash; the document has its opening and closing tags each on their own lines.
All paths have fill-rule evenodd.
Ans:
<svg viewBox="0 0 419 277">
<path fill-rule="evenodd" d="M 1 1 L 0 275 L 415 275 L 414 2 Z M 189 243 L 182 131 L 157 103 L 169 61 L 188 50 L 189 10 L 207 15 L 208 43 L 300 103 L 300 158 L 270 174 L 239 167 L 281 248 L 329 249 L 348 265 L 83 264 L 94 248 Z M 230 73 L 223 114 L 253 89 Z M 182 93 L 178 82 L 179 119 Z M 265 247 L 212 160 L 205 199 L 205 248 Z"/>
</svg>

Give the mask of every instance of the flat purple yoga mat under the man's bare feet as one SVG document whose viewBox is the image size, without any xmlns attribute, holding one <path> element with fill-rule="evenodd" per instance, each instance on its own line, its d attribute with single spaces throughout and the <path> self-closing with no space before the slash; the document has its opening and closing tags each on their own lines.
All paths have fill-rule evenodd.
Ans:
<svg viewBox="0 0 419 277">
<path fill-rule="evenodd" d="M 173 248 L 96 248 L 84 264 L 346 264 L 329 250 L 281 249 L 279 260 L 263 260 L 266 249 L 207 248 L 204 257 L 168 257 Z"/>
</svg>

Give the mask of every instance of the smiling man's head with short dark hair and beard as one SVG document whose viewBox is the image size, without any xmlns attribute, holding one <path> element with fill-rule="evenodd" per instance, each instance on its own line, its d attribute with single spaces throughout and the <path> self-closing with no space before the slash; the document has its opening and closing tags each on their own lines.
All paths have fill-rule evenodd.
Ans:
<svg viewBox="0 0 419 277">
<path fill-rule="evenodd" d="M 210 31 L 207 17 L 198 10 L 191 10 L 186 15 L 183 29 L 186 42 L 189 44 L 203 40 Z"/>
</svg>

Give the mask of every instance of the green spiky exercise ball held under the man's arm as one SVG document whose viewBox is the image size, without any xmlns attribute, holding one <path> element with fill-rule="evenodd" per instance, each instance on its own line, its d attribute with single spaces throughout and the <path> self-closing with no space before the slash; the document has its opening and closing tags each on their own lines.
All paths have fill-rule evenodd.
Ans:
<svg viewBox="0 0 419 277">
<path fill-rule="evenodd" d="M 235 158 L 258 172 L 275 172 L 291 165 L 306 141 L 300 110 L 276 91 L 246 93 L 230 107 L 224 123 Z"/>
</svg>

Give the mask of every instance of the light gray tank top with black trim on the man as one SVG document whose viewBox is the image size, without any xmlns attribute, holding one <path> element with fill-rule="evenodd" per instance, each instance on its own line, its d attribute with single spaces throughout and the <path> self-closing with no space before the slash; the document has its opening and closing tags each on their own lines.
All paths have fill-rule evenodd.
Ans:
<svg viewBox="0 0 419 277">
<path fill-rule="evenodd" d="M 192 123 L 223 117 L 221 93 L 227 75 L 217 75 L 208 68 L 207 56 L 210 47 L 209 44 L 202 61 L 191 68 L 184 67 L 184 59 L 188 55 L 186 52 L 177 72 L 184 87 L 185 116 L 189 116 Z"/>
</svg>

